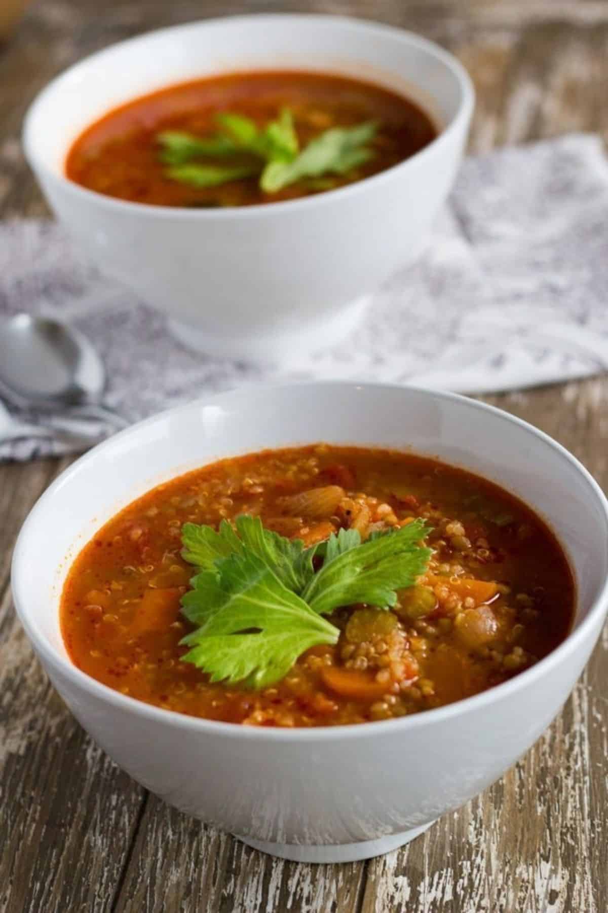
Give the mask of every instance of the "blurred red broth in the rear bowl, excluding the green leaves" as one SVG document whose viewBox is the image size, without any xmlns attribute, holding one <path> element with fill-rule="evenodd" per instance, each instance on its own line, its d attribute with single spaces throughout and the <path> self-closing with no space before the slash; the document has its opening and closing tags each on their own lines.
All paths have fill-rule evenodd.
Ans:
<svg viewBox="0 0 608 913">
<path fill-rule="evenodd" d="M 197 188 L 165 175 L 156 140 L 160 131 L 209 135 L 217 130 L 214 118 L 222 111 L 245 115 L 263 127 L 285 106 L 294 113 L 301 147 L 330 127 L 378 121 L 371 144 L 375 157 L 353 173 L 332 176 L 331 189 L 403 162 L 438 135 L 432 119 L 413 101 L 358 79 L 300 71 L 232 73 L 170 86 L 110 111 L 72 145 L 66 174 L 100 194 L 162 206 L 258 205 L 322 192 L 305 180 L 263 194 L 257 177 Z"/>
</svg>

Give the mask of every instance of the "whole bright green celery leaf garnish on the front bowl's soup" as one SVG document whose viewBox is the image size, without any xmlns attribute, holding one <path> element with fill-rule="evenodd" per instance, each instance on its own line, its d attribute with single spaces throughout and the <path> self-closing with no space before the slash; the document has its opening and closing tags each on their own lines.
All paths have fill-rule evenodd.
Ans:
<svg viewBox="0 0 608 913">
<path fill-rule="evenodd" d="M 395 591 L 416 582 L 430 556 L 421 544 L 430 531 L 423 520 L 363 544 L 356 530 L 340 530 L 310 549 L 265 530 L 256 517 L 242 515 L 235 525 L 183 527 L 182 554 L 200 571 L 181 599 L 182 613 L 198 626 L 181 643 L 191 647 L 183 660 L 211 681 L 244 687 L 267 687 L 309 647 L 335 644 L 340 632 L 322 615 L 353 603 L 394 605 Z M 315 556 L 323 559 L 317 572 Z"/>
</svg>

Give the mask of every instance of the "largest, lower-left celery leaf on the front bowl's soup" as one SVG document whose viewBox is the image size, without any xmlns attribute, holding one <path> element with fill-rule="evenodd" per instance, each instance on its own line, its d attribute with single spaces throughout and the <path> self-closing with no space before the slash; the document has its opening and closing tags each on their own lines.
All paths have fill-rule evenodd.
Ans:
<svg viewBox="0 0 608 913">
<path fill-rule="evenodd" d="M 335 644 L 340 635 L 251 551 L 218 561 L 216 573 L 199 574 L 182 604 L 191 621 L 202 622 L 182 639 L 191 646 L 182 660 L 203 669 L 211 681 L 267 687 L 283 678 L 304 650 Z"/>
</svg>

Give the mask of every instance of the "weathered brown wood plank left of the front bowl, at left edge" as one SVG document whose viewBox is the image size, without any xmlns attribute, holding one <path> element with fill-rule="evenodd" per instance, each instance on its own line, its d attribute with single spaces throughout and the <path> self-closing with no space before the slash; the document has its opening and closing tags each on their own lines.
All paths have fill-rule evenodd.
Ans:
<svg viewBox="0 0 608 913">
<path fill-rule="evenodd" d="M 143 790 L 92 744 L 15 618 L 8 561 L 57 461 L 0 467 L 0 910 L 105 913 Z"/>
</svg>

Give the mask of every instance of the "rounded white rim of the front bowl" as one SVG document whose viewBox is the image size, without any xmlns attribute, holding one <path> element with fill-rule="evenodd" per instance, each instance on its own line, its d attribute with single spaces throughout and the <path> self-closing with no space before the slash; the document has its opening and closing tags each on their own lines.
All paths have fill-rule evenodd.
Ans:
<svg viewBox="0 0 608 913">
<path fill-rule="evenodd" d="M 443 707 L 432 708 L 421 713 L 412 714 L 409 717 L 379 720 L 373 722 L 373 724 L 370 722 L 366 724 L 350 723 L 344 726 L 266 729 L 264 727 L 242 726 L 240 723 L 228 723 L 223 722 L 222 720 L 191 717 L 187 716 L 186 714 L 178 713 L 175 710 L 164 709 L 156 707 L 152 704 L 147 704 L 137 698 L 130 698 L 128 695 L 123 695 L 119 691 L 115 691 L 113 688 L 110 688 L 107 685 L 103 685 L 96 678 L 88 676 L 87 673 L 78 669 L 77 666 L 73 665 L 67 656 L 62 656 L 54 646 L 48 644 L 46 637 L 39 634 L 36 628 L 36 624 L 34 624 L 29 618 L 29 613 L 26 609 L 26 600 L 24 599 L 21 592 L 22 577 L 24 574 L 26 574 L 26 564 L 24 562 L 23 556 L 27 548 L 26 542 L 28 530 L 36 523 L 38 515 L 42 510 L 46 508 L 46 503 L 56 496 L 57 490 L 69 484 L 70 478 L 75 473 L 77 473 L 81 467 L 88 466 L 89 463 L 94 462 L 97 459 L 99 453 L 110 450 L 113 446 L 116 446 L 117 441 L 123 440 L 126 436 L 137 435 L 139 430 L 142 428 L 162 421 L 168 416 L 179 416 L 182 413 L 189 412 L 191 409 L 200 408 L 202 405 L 214 404 L 218 400 L 229 400 L 231 397 L 263 395 L 264 393 L 269 393 L 277 390 L 284 391 L 293 389 L 294 387 L 316 388 L 317 390 L 319 388 L 323 389 L 325 387 L 341 387 L 345 390 L 350 390 L 353 394 L 356 394 L 357 390 L 362 389 L 376 390 L 376 392 L 379 394 L 382 394 L 382 392 L 386 390 L 400 391 L 404 394 L 407 394 L 409 391 L 411 391 L 417 394 L 436 397 L 447 402 L 456 402 L 459 405 L 463 406 L 465 409 L 468 408 L 471 410 L 479 410 L 490 415 L 496 415 L 501 421 L 504 421 L 507 424 L 518 425 L 527 434 L 540 438 L 541 441 L 543 441 L 545 444 L 551 446 L 551 448 L 555 450 L 559 456 L 562 457 L 562 460 L 565 463 L 569 463 L 578 471 L 578 473 L 587 483 L 588 488 L 591 489 L 591 493 L 597 500 L 599 506 L 603 509 L 603 523 L 606 530 L 606 535 L 608 536 L 608 500 L 605 498 L 602 488 L 600 488 L 591 473 L 582 466 L 582 463 L 564 446 L 555 441 L 551 436 L 545 434 L 545 432 L 541 431 L 539 428 L 531 425 L 529 422 L 525 422 L 523 419 L 520 419 L 516 415 L 510 415 L 510 413 L 507 413 L 504 410 L 497 408 L 496 406 L 487 403 L 481 403 L 479 400 L 470 399 L 468 396 L 448 393 L 444 391 L 429 390 L 427 388 L 417 387 L 414 385 L 408 386 L 398 383 L 357 383 L 355 381 L 261 383 L 256 384 L 254 387 L 237 388 L 236 390 L 221 394 L 201 396 L 195 400 L 191 400 L 189 403 L 173 406 L 170 409 L 165 409 L 162 412 L 157 413 L 156 415 L 151 415 L 149 418 L 146 418 L 143 421 L 136 423 L 135 425 L 131 425 L 124 431 L 119 432 L 119 434 L 113 435 L 109 437 L 108 440 L 98 444 L 98 446 L 93 447 L 86 454 L 80 456 L 74 463 L 67 467 L 67 469 L 65 469 L 64 472 L 62 472 L 51 483 L 51 485 L 46 488 L 46 490 L 43 492 L 40 498 L 37 499 L 35 505 L 27 515 L 15 543 L 15 551 L 13 553 L 13 560 L 11 565 L 11 584 L 13 589 L 16 614 L 26 631 L 28 639 L 30 640 L 31 644 L 34 645 L 36 653 L 39 656 L 43 657 L 45 665 L 48 664 L 49 666 L 54 667 L 68 679 L 71 679 L 74 686 L 84 689 L 86 692 L 89 692 L 93 698 L 98 698 L 103 702 L 107 702 L 109 705 L 117 708 L 119 711 L 124 711 L 127 713 L 132 712 L 135 713 L 136 716 L 140 715 L 149 720 L 157 720 L 161 725 L 169 724 L 170 726 L 176 726 L 179 729 L 183 728 L 198 731 L 201 734 L 201 737 L 209 735 L 210 737 L 221 736 L 228 739 L 242 738 L 254 741 L 270 740 L 275 742 L 325 742 L 341 739 L 373 738 L 375 736 L 380 737 L 384 734 L 390 734 L 391 732 L 397 734 L 397 732 L 404 732 L 408 729 L 418 729 L 425 726 L 440 725 L 445 720 L 459 717 L 460 715 L 465 714 L 469 711 L 474 712 L 478 708 L 488 707 L 493 703 L 499 703 L 501 698 L 509 698 L 510 695 L 513 695 L 517 691 L 520 691 L 521 689 L 529 686 L 533 686 L 534 682 L 537 679 L 550 672 L 551 669 L 555 666 L 559 666 L 563 660 L 567 659 L 577 650 L 579 645 L 588 635 L 588 632 L 593 628 L 593 625 L 596 624 L 599 617 L 602 614 L 605 614 L 606 603 L 608 603 L 608 572 L 604 577 L 600 592 L 596 595 L 593 604 L 591 605 L 585 618 L 582 619 L 581 624 L 575 627 L 570 632 L 570 634 L 566 636 L 565 640 L 562 641 L 562 644 L 557 646 L 547 656 L 544 656 L 534 666 L 531 666 L 531 668 L 526 669 L 525 671 L 520 672 L 517 676 L 510 678 L 508 681 L 503 682 L 495 687 L 489 688 L 486 691 L 482 691 L 471 698 L 464 698 L 462 700 L 455 701 L 452 704 L 447 704 Z"/>
</svg>

